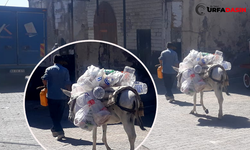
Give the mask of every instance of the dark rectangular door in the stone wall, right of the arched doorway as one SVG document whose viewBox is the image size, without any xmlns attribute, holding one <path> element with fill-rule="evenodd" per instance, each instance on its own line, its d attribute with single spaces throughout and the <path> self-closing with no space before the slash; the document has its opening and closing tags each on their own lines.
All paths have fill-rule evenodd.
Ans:
<svg viewBox="0 0 250 150">
<path fill-rule="evenodd" d="M 138 57 L 147 66 L 150 66 L 151 57 L 151 30 L 138 29 L 137 30 L 137 52 Z"/>
</svg>

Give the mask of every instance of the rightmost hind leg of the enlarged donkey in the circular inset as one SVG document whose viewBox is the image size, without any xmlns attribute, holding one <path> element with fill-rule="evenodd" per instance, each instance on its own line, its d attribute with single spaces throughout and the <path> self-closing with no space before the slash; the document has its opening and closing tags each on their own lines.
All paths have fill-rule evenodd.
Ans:
<svg viewBox="0 0 250 150">
<path fill-rule="evenodd" d="M 122 119 L 123 128 L 128 135 L 130 150 L 134 150 L 135 139 L 136 139 L 135 126 L 134 126 L 135 118 L 134 116 L 132 116 L 132 114 L 126 113 L 123 115 L 121 119 Z"/>
</svg>

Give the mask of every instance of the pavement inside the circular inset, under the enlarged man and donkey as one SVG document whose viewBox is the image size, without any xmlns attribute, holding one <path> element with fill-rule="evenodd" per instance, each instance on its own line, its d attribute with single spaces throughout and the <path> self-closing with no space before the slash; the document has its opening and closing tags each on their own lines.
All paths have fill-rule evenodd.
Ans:
<svg viewBox="0 0 250 150">
<path fill-rule="evenodd" d="M 51 135 L 51 120 L 48 109 L 41 107 L 39 103 L 28 103 L 30 106 L 28 107 L 29 109 L 27 109 L 27 117 L 31 130 L 36 139 L 45 149 L 92 149 L 92 132 L 75 127 L 67 120 L 67 113 L 64 114 L 62 120 L 62 126 L 66 138 L 62 141 L 56 141 Z M 37 119 L 38 116 L 39 119 Z M 142 143 L 149 133 L 150 127 L 146 126 L 146 129 L 147 131 L 142 131 L 138 126 L 135 126 L 137 134 L 135 142 L 136 147 Z M 97 131 L 97 150 L 105 149 L 105 145 L 102 142 L 102 128 L 98 128 Z M 112 149 L 129 149 L 129 141 L 122 124 L 108 125 L 107 140 Z"/>
</svg>

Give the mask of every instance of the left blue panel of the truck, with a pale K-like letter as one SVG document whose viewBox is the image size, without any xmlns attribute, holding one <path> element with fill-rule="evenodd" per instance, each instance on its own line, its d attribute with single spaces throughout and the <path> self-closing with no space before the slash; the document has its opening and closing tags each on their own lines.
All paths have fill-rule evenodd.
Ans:
<svg viewBox="0 0 250 150">
<path fill-rule="evenodd" d="M 0 12 L 0 65 L 17 64 L 16 13 Z"/>
</svg>

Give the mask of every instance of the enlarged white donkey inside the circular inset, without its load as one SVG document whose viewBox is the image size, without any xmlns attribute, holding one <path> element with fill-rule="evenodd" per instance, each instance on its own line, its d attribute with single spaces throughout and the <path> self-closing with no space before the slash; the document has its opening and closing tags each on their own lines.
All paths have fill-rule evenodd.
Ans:
<svg viewBox="0 0 250 150">
<path fill-rule="evenodd" d="M 77 98 L 77 97 L 71 97 L 70 91 L 63 90 L 63 92 L 70 97 L 71 101 Z M 141 130 L 146 130 L 143 127 L 143 123 L 139 114 L 140 106 L 139 106 L 138 96 L 139 95 L 136 95 L 131 90 L 123 90 L 117 97 L 117 103 L 108 107 L 108 111 L 111 113 L 111 117 L 108 120 L 108 122 L 102 125 L 103 128 L 102 141 L 105 144 L 107 150 L 111 150 L 111 148 L 108 146 L 106 138 L 107 124 L 115 124 L 120 122 L 122 123 L 129 139 L 130 150 L 134 150 L 135 148 L 134 147 L 136 139 L 136 133 L 134 127 L 135 118 L 137 119 L 137 123 L 139 124 Z M 106 102 L 103 102 L 104 105 Z M 71 108 L 74 108 L 74 106 Z M 74 115 L 75 112 L 70 111 L 69 119 L 71 121 L 72 119 L 74 119 Z M 97 139 L 97 127 L 93 129 L 93 147 L 92 147 L 93 150 L 96 150 L 96 139 Z"/>
</svg>

